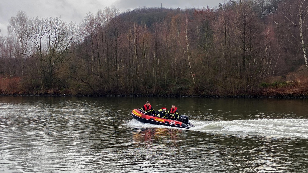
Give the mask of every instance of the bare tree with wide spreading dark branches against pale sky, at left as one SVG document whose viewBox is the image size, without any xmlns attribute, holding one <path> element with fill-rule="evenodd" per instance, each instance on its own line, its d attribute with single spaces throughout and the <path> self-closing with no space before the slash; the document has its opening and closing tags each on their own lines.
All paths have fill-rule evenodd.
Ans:
<svg viewBox="0 0 308 173">
<path fill-rule="evenodd" d="M 53 91 L 60 66 L 68 61 L 69 50 L 77 38 L 75 23 L 63 22 L 61 18 L 34 18 L 30 31 L 29 55 L 39 61 L 42 90 L 47 86 Z"/>
</svg>

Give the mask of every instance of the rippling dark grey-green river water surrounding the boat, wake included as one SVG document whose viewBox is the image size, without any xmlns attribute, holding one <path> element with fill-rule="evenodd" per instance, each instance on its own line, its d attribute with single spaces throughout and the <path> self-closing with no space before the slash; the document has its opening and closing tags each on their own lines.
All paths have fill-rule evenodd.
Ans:
<svg viewBox="0 0 308 173">
<path fill-rule="evenodd" d="M 141 123 L 175 104 L 195 126 Z M 0 96 L 0 172 L 308 172 L 307 99 Z"/>
</svg>

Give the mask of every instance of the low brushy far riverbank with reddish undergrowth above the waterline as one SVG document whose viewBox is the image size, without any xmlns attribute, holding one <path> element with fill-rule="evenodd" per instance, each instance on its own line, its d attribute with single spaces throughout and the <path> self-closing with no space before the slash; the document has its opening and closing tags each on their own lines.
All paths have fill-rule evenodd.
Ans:
<svg viewBox="0 0 308 173">
<path fill-rule="evenodd" d="M 294 75 L 296 76 L 296 75 Z M 175 86 L 164 90 L 138 91 L 132 94 L 129 91 L 102 91 L 85 89 L 86 86 L 70 86 L 62 89 L 45 89 L 29 86 L 19 78 L 0 78 L 0 95 L 13 96 L 79 96 L 79 97 L 205 97 L 205 98 L 308 98 L 308 78 L 293 78 L 286 81 L 283 78 L 270 78 L 253 87 L 236 89 L 237 92 L 212 88 L 211 90 L 193 88 L 191 85 L 176 86 L 185 88 L 175 90 Z M 151 94 L 150 94 L 151 93 Z"/>
</svg>

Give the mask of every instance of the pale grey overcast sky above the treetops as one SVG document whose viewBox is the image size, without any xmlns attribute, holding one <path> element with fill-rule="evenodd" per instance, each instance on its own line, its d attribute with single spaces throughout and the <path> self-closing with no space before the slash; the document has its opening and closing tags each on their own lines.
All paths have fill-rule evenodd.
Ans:
<svg viewBox="0 0 308 173">
<path fill-rule="evenodd" d="M 121 11 L 137 7 L 203 8 L 217 7 L 223 0 L 0 0 L 0 30 L 7 36 L 8 20 L 18 10 L 30 18 L 61 17 L 64 21 L 82 21 L 88 12 L 95 14 L 106 6 L 118 7 Z"/>
</svg>

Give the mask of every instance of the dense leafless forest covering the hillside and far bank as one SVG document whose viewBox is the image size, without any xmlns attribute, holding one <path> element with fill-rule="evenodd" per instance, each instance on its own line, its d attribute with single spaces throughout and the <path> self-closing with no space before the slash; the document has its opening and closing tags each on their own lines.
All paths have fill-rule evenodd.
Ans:
<svg viewBox="0 0 308 173">
<path fill-rule="evenodd" d="M 307 96 L 308 1 L 10 18 L 0 94 Z"/>
</svg>

